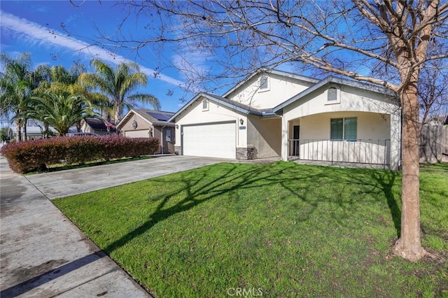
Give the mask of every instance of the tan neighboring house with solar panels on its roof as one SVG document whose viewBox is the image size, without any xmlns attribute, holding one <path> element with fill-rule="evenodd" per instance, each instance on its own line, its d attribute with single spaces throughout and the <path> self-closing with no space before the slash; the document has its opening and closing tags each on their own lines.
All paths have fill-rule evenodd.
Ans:
<svg viewBox="0 0 448 298">
<path fill-rule="evenodd" d="M 160 150 L 156 153 L 174 153 L 176 131 L 174 123 L 167 121 L 172 115 L 174 113 L 133 108 L 120 120 L 117 129 L 129 138 L 157 138 Z"/>
</svg>

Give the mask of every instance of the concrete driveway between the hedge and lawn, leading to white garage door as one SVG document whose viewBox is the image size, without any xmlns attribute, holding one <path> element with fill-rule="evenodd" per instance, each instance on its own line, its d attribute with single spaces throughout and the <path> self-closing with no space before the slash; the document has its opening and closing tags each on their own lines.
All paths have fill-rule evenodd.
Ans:
<svg viewBox="0 0 448 298">
<path fill-rule="evenodd" d="M 104 166 L 26 176 L 48 199 L 91 192 L 157 176 L 187 171 L 229 159 L 169 155 Z"/>
</svg>

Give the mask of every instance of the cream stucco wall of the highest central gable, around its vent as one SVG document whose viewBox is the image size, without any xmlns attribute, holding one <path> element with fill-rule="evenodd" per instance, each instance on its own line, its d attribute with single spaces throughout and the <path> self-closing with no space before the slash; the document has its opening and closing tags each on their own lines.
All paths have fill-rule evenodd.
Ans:
<svg viewBox="0 0 448 298">
<path fill-rule="evenodd" d="M 272 73 L 269 74 L 268 80 L 269 90 L 259 90 L 260 76 L 255 76 L 237 90 L 228 94 L 227 98 L 253 108 L 274 108 L 274 106 L 278 106 L 313 85 L 302 80 L 277 76 Z"/>
</svg>

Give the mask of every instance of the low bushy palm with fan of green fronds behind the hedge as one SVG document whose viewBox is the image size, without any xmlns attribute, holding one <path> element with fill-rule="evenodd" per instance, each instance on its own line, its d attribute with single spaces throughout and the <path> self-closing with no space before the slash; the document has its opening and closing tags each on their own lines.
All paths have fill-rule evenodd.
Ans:
<svg viewBox="0 0 448 298">
<path fill-rule="evenodd" d="M 99 117 L 90 101 L 80 95 L 64 96 L 49 92 L 31 97 L 30 103 L 34 110 L 29 111 L 28 116 L 54 127 L 59 136 L 64 136 L 73 124 L 87 116 Z"/>
</svg>

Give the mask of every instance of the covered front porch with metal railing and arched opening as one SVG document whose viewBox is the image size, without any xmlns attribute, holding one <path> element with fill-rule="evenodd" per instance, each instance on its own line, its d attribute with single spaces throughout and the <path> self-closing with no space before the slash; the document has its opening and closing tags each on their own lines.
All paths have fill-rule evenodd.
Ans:
<svg viewBox="0 0 448 298">
<path fill-rule="evenodd" d="M 328 112 L 288 120 L 283 115 L 283 160 L 397 169 L 396 115 Z"/>
</svg>

